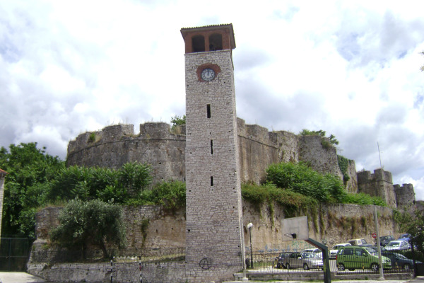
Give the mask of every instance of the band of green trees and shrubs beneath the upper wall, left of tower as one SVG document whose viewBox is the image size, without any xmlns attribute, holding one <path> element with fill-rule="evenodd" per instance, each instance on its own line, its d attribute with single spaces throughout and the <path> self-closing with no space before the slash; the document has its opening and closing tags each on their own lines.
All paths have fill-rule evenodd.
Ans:
<svg viewBox="0 0 424 283">
<path fill-rule="evenodd" d="M 114 204 L 159 204 L 165 209 L 185 207 L 185 184 L 163 182 L 151 187 L 147 164 L 126 163 L 110 169 L 83 166 L 65 168 L 36 143 L 0 149 L 0 168 L 9 174 L 4 185 L 3 236 L 35 238 L 39 207 L 66 205 L 70 200 L 100 200 Z"/>
</svg>

